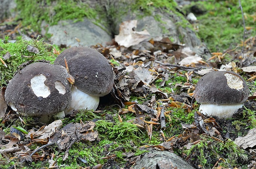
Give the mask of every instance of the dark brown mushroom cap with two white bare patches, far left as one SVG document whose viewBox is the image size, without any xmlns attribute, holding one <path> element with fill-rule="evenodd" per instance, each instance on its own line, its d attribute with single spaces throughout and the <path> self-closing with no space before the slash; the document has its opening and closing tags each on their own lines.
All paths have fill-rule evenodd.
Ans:
<svg viewBox="0 0 256 169">
<path fill-rule="evenodd" d="M 71 85 L 65 67 L 32 63 L 19 71 L 5 90 L 5 100 L 28 116 L 55 115 L 68 108 Z"/>
</svg>

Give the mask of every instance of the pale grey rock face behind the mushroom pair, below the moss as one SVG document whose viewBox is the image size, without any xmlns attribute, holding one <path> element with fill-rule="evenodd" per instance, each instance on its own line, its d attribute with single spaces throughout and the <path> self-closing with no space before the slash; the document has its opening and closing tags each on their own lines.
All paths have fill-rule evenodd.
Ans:
<svg viewBox="0 0 256 169">
<path fill-rule="evenodd" d="M 107 31 L 88 19 L 76 23 L 71 20 L 59 21 L 57 25 L 50 26 L 47 33 L 52 34 L 50 40 L 53 44 L 66 46 L 105 45 L 112 39 Z"/>
</svg>

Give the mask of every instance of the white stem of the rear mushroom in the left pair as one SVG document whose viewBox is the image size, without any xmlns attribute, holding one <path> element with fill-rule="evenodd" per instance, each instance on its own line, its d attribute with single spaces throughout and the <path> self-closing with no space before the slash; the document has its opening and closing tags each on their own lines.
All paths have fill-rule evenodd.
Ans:
<svg viewBox="0 0 256 169">
<path fill-rule="evenodd" d="M 79 110 L 79 109 L 96 110 L 97 109 L 100 102 L 99 96 L 89 95 L 88 93 L 85 93 L 82 90 L 79 90 L 76 86 L 73 86 L 73 85 L 71 87 L 71 93 L 72 93 L 71 104 L 69 105 L 69 108 L 64 111 L 66 115 L 72 114 L 73 110 Z"/>
</svg>

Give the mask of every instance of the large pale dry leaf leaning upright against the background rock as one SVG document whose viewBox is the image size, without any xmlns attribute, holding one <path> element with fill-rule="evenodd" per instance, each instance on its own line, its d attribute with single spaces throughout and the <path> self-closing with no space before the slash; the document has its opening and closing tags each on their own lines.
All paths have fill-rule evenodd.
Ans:
<svg viewBox="0 0 256 169">
<path fill-rule="evenodd" d="M 119 35 L 115 36 L 115 41 L 120 46 L 128 48 L 139 44 L 150 37 L 147 30 L 137 32 L 133 30 L 134 28 L 137 28 L 137 20 L 130 20 L 121 23 L 119 25 Z"/>
</svg>

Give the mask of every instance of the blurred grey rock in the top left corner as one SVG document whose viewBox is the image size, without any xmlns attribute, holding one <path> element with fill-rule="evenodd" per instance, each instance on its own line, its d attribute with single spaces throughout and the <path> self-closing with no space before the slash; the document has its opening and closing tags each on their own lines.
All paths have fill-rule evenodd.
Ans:
<svg viewBox="0 0 256 169">
<path fill-rule="evenodd" d="M 14 0 L 0 0 L 0 20 L 7 19 L 8 17 L 14 17 L 14 8 L 16 3 Z"/>
</svg>

